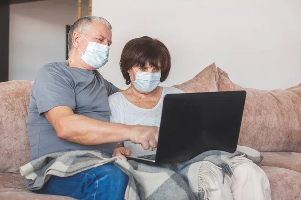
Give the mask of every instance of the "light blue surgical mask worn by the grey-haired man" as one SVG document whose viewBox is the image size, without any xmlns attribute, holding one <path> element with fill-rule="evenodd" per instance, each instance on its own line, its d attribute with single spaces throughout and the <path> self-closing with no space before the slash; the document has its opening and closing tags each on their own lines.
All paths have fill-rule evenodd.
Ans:
<svg viewBox="0 0 301 200">
<path fill-rule="evenodd" d="M 83 35 L 81 36 L 84 37 Z M 102 45 L 93 41 L 89 41 L 88 39 L 86 40 L 88 41 L 88 46 L 85 54 L 83 54 L 80 48 L 78 48 L 82 54 L 81 58 L 87 64 L 93 66 L 96 69 L 99 69 L 108 62 L 110 48 L 107 45 Z"/>
</svg>

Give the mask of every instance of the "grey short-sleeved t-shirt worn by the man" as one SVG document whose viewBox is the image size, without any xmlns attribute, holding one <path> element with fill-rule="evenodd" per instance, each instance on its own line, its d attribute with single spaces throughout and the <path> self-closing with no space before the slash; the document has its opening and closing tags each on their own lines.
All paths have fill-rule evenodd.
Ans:
<svg viewBox="0 0 301 200">
<path fill-rule="evenodd" d="M 68 66 L 68 61 L 42 66 L 30 93 L 27 132 L 30 141 L 30 160 L 54 152 L 71 150 L 100 150 L 112 153 L 115 143 L 81 145 L 57 137 L 44 112 L 57 106 L 68 106 L 75 114 L 108 122 L 108 96 L 118 89 L 98 71 Z"/>
</svg>

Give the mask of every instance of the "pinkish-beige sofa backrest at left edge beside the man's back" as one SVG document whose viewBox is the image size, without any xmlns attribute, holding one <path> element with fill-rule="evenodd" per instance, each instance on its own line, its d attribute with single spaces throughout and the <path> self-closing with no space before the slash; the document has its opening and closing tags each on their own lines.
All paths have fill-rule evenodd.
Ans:
<svg viewBox="0 0 301 200">
<path fill-rule="evenodd" d="M 29 162 L 26 129 L 31 82 L 0 83 L 0 172 L 17 172 Z"/>
</svg>

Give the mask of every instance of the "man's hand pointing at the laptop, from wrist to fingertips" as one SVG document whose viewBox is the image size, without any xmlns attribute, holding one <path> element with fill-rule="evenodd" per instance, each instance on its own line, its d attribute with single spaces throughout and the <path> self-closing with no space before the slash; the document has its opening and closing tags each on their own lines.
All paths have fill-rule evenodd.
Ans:
<svg viewBox="0 0 301 200">
<path fill-rule="evenodd" d="M 129 135 L 129 140 L 135 144 L 141 144 L 142 148 L 156 148 L 158 142 L 159 127 L 157 126 L 133 126 Z"/>
</svg>

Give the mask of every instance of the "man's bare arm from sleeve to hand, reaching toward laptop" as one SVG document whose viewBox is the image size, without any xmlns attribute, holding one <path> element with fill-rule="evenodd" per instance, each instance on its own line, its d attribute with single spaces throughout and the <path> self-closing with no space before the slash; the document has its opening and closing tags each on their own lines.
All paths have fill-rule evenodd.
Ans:
<svg viewBox="0 0 301 200">
<path fill-rule="evenodd" d="M 83 145 L 131 141 L 144 149 L 156 147 L 159 128 L 109 123 L 74 114 L 68 106 L 57 106 L 44 112 L 60 139 Z"/>
</svg>

